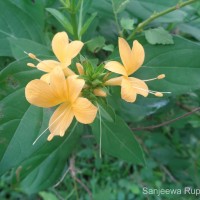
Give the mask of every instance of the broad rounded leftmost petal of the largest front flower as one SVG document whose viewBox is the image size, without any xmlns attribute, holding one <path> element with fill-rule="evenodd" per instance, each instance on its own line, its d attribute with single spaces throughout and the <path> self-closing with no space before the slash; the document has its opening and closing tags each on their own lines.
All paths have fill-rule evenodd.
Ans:
<svg viewBox="0 0 200 200">
<path fill-rule="evenodd" d="M 29 103 L 43 108 L 49 108 L 62 102 L 48 83 L 38 79 L 27 84 L 25 96 Z"/>
</svg>

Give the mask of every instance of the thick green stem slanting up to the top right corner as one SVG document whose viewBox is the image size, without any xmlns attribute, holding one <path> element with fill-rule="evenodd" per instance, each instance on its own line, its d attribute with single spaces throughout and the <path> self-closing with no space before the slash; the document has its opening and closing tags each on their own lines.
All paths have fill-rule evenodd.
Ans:
<svg viewBox="0 0 200 200">
<path fill-rule="evenodd" d="M 172 6 L 168 9 L 166 9 L 166 10 L 163 10 L 159 13 L 152 14 L 148 19 L 146 19 L 143 22 L 141 22 L 140 24 L 138 24 L 138 26 L 135 28 L 133 33 L 131 35 L 129 35 L 128 40 L 132 40 L 136 33 L 140 32 L 147 24 L 151 23 L 153 20 L 157 19 L 158 17 L 166 15 L 166 14 L 172 12 L 172 11 L 178 10 L 179 8 L 182 8 L 182 7 L 187 6 L 191 3 L 194 3 L 195 1 L 197 1 L 197 0 L 188 0 L 188 1 L 185 1 L 185 2 L 180 2 L 177 5 Z"/>
</svg>

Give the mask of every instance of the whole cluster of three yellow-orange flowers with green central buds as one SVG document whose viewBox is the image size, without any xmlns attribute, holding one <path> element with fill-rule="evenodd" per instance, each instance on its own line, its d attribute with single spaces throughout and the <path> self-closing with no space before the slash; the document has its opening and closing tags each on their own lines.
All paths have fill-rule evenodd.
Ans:
<svg viewBox="0 0 200 200">
<path fill-rule="evenodd" d="M 59 32 L 52 40 L 52 49 L 58 61 L 41 61 L 34 54 L 28 53 L 30 58 L 39 63 L 36 66 L 33 63 L 27 65 L 45 74 L 27 84 L 26 99 L 43 108 L 59 105 L 49 121 L 49 141 L 56 135 L 63 136 L 74 117 L 80 123 L 92 123 L 99 108 L 97 99 L 107 96 L 107 86 L 121 86 L 121 97 L 127 102 L 134 102 L 137 94 L 144 97 L 149 93 L 163 95 L 161 92 L 149 90 L 145 82 L 162 79 L 164 74 L 149 80 L 129 77 L 144 61 L 144 49 L 138 41 L 133 42 L 131 49 L 123 38 L 119 38 L 119 53 L 123 65 L 117 61 L 109 61 L 105 65 L 93 67 L 89 62 L 83 61 L 76 63 L 78 73 L 75 73 L 76 70 L 70 69 L 70 66 L 82 47 L 81 41 L 69 42 L 68 35 Z M 121 76 L 110 78 L 113 74 L 111 72 Z"/>
</svg>

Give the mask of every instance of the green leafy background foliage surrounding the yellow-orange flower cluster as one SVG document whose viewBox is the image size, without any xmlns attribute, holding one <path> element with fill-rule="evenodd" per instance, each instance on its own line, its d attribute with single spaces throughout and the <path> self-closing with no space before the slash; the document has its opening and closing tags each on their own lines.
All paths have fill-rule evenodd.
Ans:
<svg viewBox="0 0 200 200">
<path fill-rule="evenodd" d="M 144 186 L 200 188 L 199 112 L 152 130 L 135 130 L 136 139 L 132 141 L 120 130 L 126 126 L 121 118 L 136 129 L 161 124 L 200 106 L 200 2 L 179 9 L 179 0 L 77 0 L 71 10 L 63 2 L 71 1 L 0 1 L 0 199 L 87 200 L 91 199 L 90 192 L 94 200 L 200 198 L 142 194 Z M 106 128 L 112 119 L 104 119 L 102 159 L 97 144 L 99 118 L 97 125 L 83 128 L 73 123 L 64 138 L 51 143 L 41 138 L 32 145 L 47 127 L 53 110 L 30 106 L 24 98 L 25 85 L 42 74 L 26 66 L 29 59 L 24 51 L 44 59 L 53 57 L 51 38 L 64 30 L 70 39 L 82 39 L 86 44 L 83 53 L 92 63 L 119 60 L 119 35 L 127 38 L 139 23 L 175 5 L 176 11 L 155 19 L 135 36 L 143 44 L 146 58 L 134 76 L 147 79 L 166 74 L 166 79 L 152 82 L 150 87 L 171 91 L 171 95 L 141 97 L 128 104 L 116 98 L 119 88 L 110 91 L 108 102 L 121 118 L 117 117 L 112 130 L 118 135 L 116 141 Z M 75 29 L 73 14 L 77 14 Z M 91 134 L 92 129 L 95 134 Z M 140 154 L 139 142 L 145 166 L 131 163 L 137 158 L 131 157 L 128 149 L 118 152 L 121 140 Z"/>
</svg>

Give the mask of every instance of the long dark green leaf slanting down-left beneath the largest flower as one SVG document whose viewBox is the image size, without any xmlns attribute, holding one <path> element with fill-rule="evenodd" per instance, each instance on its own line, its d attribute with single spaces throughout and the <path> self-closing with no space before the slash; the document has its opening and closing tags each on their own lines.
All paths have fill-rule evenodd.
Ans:
<svg viewBox="0 0 200 200">
<path fill-rule="evenodd" d="M 20 164 L 19 177 L 18 180 L 15 180 L 16 184 L 20 180 L 18 187 L 24 192 L 32 194 L 58 182 L 69 155 L 79 144 L 82 131 L 82 125 L 74 123 L 64 137 L 54 138 L 51 142 L 46 141 L 46 138 L 45 141 L 40 141 L 40 144 L 35 147 L 36 150 Z M 37 179 L 35 179 L 36 176 Z M 47 179 L 48 181 L 46 181 Z"/>
</svg>

